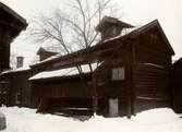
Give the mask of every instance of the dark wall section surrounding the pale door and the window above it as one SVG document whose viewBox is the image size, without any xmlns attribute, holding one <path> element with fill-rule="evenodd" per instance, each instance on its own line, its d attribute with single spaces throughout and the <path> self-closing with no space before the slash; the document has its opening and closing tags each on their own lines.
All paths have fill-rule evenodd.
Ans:
<svg viewBox="0 0 182 132">
<path fill-rule="evenodd" d="M 105 62 L 99 67 L 99 69 L 96 70 L 97 94 L 98 99 L 102 103 L 101 105 L 101 103 L 99 103 L 98 100 L 98 109 L 100 115 L 104 115 L 106 117 L 109 116 L 109 98 L 118 98 L 119 115 L 126 115 L 126 79 L 123 81 L 112 80 L 112 69 L 124 67 L 125 70 L 125 51 L 123 52 L 123 50 L 118 49 L 114 53 L 112 53 L 112 56 L 109 56 L 109 59 L 106 59 Z M 107 58 L 107 56 L 102 57 Z M 101 106 L 104 106 L 105 108 L 102 108 Z"/>
</svg>

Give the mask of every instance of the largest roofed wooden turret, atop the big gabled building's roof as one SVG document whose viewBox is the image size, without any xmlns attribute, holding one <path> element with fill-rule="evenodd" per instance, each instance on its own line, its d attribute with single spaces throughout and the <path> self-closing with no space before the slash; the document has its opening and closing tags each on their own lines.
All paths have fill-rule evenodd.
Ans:
<svg viewBox="0 0 182 132">
<path fill-rule="evenodd" d="M 117 37 L 121 34 L 123 28 L 134 27 L 128 23 L 121 22 L 116 17 L 105 16 L 96 26 L 96 31 L 101 34 L 101 41 Z"/>
</svg>

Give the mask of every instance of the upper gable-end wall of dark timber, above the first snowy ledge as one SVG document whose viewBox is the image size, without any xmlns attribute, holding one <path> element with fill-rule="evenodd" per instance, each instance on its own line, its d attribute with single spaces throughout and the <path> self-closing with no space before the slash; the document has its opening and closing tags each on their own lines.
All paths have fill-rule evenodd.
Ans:
<svg viewBox="0 0 182 132">
<path fill-rule="evenodd" d="M 151 62 L 169 67 L 169 64 L 171 64 L 171 55 L 166 44 L 159 38 L 160 35 L 155 35 L 157 37 L 156 40 L 153 40 L 154 38 L 150 38 L 150 36 L 153 36 L 151 33 L 139 36 L 136 39 L 136 61 Z"/>
</svg>

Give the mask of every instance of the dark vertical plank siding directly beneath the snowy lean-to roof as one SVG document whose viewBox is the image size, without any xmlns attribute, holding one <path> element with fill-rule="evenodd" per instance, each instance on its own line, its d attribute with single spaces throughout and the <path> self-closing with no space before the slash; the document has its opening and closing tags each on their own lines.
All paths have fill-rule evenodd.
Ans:
<svg viewBox="0 0 182 132">
<path fill-rule="evenodd" d="M 93 97 L 93 88 L 87 83 L 32 84 L 34 95 L 41 97 Z"/>
</svg>

